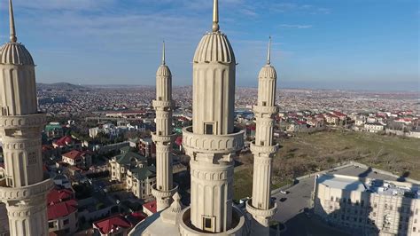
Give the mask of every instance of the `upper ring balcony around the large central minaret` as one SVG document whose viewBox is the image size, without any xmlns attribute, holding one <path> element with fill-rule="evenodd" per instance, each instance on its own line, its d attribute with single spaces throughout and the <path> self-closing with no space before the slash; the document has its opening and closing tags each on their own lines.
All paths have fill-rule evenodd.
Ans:
<svg viewBox="0 0 420 236">
<path fill-rule="evenodd" d="M 195 134 L 192 126 L 183 128 L 183 148 L 187 153 L 236 153 L 244 147 L 244 130 L 227 135 Z"/>
</svg>

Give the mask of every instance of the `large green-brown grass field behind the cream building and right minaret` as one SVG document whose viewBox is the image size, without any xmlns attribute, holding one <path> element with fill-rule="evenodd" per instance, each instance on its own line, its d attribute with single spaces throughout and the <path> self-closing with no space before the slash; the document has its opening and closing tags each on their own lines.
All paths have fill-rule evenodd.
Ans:
<svg viewBox="0 0 420 236">
<path fill-rule="evenodd" d="M 299 134 L 279 140 L 273 163 L 272 188 L 290 183 L 293 177 L 330 169 L 343 161 L 358 161 L 399 176 L 420 179 L 420 139 L 381 136 L 353 131 Z M 234 197 L 251 196 L 253 157 L 239 157 L 244 165 L 235 173 Z"/>
</svg>

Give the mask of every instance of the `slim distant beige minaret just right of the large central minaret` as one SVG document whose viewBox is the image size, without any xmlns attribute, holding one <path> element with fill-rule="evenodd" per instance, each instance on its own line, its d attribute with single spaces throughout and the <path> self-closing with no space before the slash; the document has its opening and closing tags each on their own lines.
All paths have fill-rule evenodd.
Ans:
<svg viewBox="0 0 420 236">
<path fill-rule="evenodd" d="M 246 209 L 253 215 L 253 235 L 268 235 L 268 221 L 276 213 L 276 203 L 270 198 L 271 166 L 277 146 L 273 142 L 276 106 L 276 69 L 271 66 L 271 38 L 268 43 L 267 65 L 258 76 L 258 104 L 253 106 L 256 132 L 253 152 L 253 198 Z"/>
</svg>

